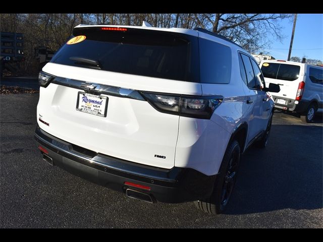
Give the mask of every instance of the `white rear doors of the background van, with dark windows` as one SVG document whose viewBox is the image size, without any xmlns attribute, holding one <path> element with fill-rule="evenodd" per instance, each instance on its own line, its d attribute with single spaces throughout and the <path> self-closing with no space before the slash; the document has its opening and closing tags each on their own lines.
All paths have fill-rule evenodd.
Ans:
<svg viewBox="0 0 323 242">
<path fill-rule="evenodd" d="M 301 81 L 301 67 L 299 65 L 264 62 L 261 65 L 261 71 L 267 87 L 270 83 L 274 83 L 281 88 L 280 92 L 271 93 L 279 97 L 275 100 L 277 104 L 288 105 L 289 100 L 295 100 Z"/>
</svg>

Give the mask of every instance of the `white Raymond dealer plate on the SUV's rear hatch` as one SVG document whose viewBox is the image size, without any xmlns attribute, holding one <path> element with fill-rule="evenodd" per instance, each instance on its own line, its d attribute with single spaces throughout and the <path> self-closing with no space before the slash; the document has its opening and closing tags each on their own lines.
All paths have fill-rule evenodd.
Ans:
<svg viewBox="0 0 323 242">
<path fill-rule="evenodd" d="M 100 117 L 106 117 L 108 101 L 109 99 L 104 96 L 78 92 L 76 110 Z"/>
</svg>

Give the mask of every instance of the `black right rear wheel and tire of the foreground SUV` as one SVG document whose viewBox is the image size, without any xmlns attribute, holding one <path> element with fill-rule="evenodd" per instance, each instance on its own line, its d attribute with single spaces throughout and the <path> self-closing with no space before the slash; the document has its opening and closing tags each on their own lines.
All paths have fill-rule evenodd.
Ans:
<svg viewBox="0 0 323 242">
<path fill-rule="evenodd" d="M 238 141 L 232 141 L 223 157 L 220 172 L 211 196 L 205 201 L 195 201 L 195 206 L 210 214 L 220 214 L 226 209 L 230 201 L 240 162 L 240 146 Z"/>
</svg>

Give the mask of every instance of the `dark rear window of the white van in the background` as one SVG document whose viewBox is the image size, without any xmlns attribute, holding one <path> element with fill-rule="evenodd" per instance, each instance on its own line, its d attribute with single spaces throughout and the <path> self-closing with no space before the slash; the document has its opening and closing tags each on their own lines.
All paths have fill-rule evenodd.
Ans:
<svg viewBox="0 0 323 242">
<path fill-rule="evenodd" d="M 265 62 L 261 66 L 261 71 L 266 78 L 295 81 L 299 77 L 300 66 Z"/>
</svg>

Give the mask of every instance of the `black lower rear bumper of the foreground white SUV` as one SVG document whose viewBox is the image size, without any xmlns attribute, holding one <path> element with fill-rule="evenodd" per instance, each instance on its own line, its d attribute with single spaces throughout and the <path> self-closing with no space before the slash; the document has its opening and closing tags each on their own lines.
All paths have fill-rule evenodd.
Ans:
<svg viewBox="0 0 323 242">
<path fill-rule="evenodd" d="M 53 165 L 117 191 L 131 188 L 147 193 L 159 202 L 205 199 L 212 193 L 216 179 L 216 175 L 207 176 L 191 168 L 164 169 L 95 153 L 53 137 L 38 126 L 34 137 L 47 150 Z M 150 191 L 124 185 L 126 181 L 150 187 Z"/>
</svg>

